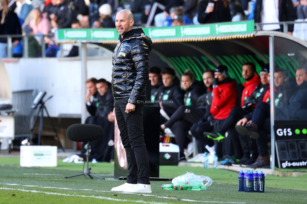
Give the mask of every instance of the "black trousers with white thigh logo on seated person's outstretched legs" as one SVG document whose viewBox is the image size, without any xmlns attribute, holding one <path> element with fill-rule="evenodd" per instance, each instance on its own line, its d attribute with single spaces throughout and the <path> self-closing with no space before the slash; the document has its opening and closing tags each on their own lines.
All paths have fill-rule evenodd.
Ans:
<svg viewBox="0 0 307 204">
<path fill-rule="evenodd" d="M 164 125 L 166 127 L 171 127 L 176 121 L 180 120 L 196 123 L 205 115 L 205 113 L 206 109 L 204 107 L 181 105 L 170 117 L 170 120 L 165 122 Z"/>
</svg>

